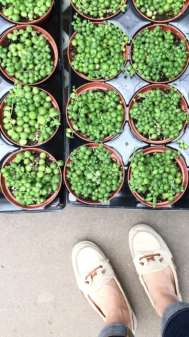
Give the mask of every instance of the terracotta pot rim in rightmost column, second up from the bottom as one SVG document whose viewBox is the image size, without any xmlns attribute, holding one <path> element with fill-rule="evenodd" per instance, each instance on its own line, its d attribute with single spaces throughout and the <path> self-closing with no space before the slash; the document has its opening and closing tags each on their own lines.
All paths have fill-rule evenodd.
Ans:
<svg viewBox="0 0 189 337">
<path fill-rule="evenodd" d="M 150 85 L 148 85 L 148 86 L 146 86 L 146 87 L 144 87 L 144 88 L 138 90 L 138 91 L 136 92 L 136 94 L 132 97 L 132 99 L 131 99 L 131 101 L 130 101 L 130 103 L 129 103 L 129 108 L 128 108 L 128 121 L 129 121 L 129 125 L 130 125 L 132 131 L 134 132 L 134 134 L 135 134 L 139 139 L 141 139 L 143 142 L 147 142 L 147 143 L 150 143 L 150 144 L 165 144 L 165 143 L 169 143 L 169 142 L 173 141 L 173 140 L 174 140 L 175 138 L 177 138 L 177 137 L 175 137 L 175 138 L 172 139 L 172 140 L 170 140 L 169 138 L 167 138 L 167 139 L 165 139 L 165 140 L 162 140 L 162 141 L 156 141 L 156 140 L 153 140 L 153 139 L 149 140 L 148 138 L 144 137 L 141 133 L 139 133 L 139 132 L 137 131 L 137 128 L 135 127 L 135 123 L 134 123 L 133 119 L 130 117 L 130 114 L 129 114 L 129 110 L 130 110 L 131 108 L 133 108 L 133 106 L 134 106 L 135 103 L 137 103 L 137 101 L 134 102 L 133 99 L 134 99 L 134 98 L 135 98 L 135 99 L 141 98 L 140 96 L 138 96 L 139 93 L 145 94 L 146 92 L 149 92 L 149 91 L 152 90 L 153 88 L 155 88 L 155 89 L 158 89 L 158 88 L 161 89 L 161 88 L 162 88 L 162 89 L 169 89 L 169 90 L 171 90 L 171 88 L 170 88 L 168 85 L 166 85 L 166 84 L 161 84 L 161 83 L 159 83 L 159 84 L 150 84 Z M 176 92 L 177 92 L 178 94 L 180 94 L 180 92 L 179 92 L 178 90 L 177 90 Z M 183 131 L 183 129 L 185 128 L 186 123 L 187 123 L 187 118 L 188 118 L 188 106 L 187 106 L 186 100 L 185 100 L 185 98 L 184 98 L 183 96 L 180 98 L 180 102 L 181 102 L 181 104 L 182 104 L 183 110 L 184 110 L 185 112 L 187 112 L 186 120 L 183 122 L 183 128 L 182 128 L 182 130 L 180 131 L 180 133 L 181 133 L 181 132 Z"/>
</svg>

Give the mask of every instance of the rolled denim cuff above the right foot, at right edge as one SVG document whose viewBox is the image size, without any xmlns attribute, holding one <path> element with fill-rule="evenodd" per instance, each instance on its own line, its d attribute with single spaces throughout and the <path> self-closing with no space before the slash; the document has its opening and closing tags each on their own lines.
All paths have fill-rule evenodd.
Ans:
<svg viewBox="0 0 189 337">
<path fill-rule="evenodd" d="M 162 319 L 161 319 L 161 335 L 163 335 L 163 331 L 166 325 L 169 323 L 171 317 L 179 312 L 182 309 L 189 308 L 189 303 L 187 302 L 173 302 L 169 304 L 165 310 L 163 311 Z"/>
</svg>

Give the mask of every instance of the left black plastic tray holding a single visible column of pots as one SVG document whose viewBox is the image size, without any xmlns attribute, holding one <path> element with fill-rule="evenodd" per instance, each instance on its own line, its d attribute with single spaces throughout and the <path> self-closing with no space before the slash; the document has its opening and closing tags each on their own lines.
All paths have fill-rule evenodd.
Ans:
<svg viewBox="0 0 189 337">
<path fill-rule="evenodd" d="M 7 20 L 4 20 L 0 16 L 0 36 L 13 27 L 14 25 Z M 53 12 L 51 18 L 43 25 L 38 25 L 45 29 L 55 40 L 58 48 L 58 63 L 53 75 L 49 80 L 45 81 L 43 84 L 35 86 L 45 89 L 49 92 L 57 101 L 59 109 L 61 112 L 61 125 L 59 126 L 56 134 L 47 143 L 39 146 L 56 160 L 62 159 L 65 162 L 66 159 L 66 146 L 65 146 L 65 120 L 64 120 L 64 76 L 63 76 L 63 51 L 62 51 L 62 10 L 61 10 L 61 0 L 56 0 L 53 6 Z M 19 28 L 19 25 L 18 25 Z M 6 96 L 8 90 L 12 88 L 13 82 L 8 82 L 4 75 L 0 72 L 0 100 Z M 0 164 L 2 165 L 4 160 L 14 151 L 21 149 L 21 147 L 11 144 L 4 136 L 0 133 Z M 62 180 L 63 181 L 63 180 Z M 47 212 L 47 211 L 61 211 L 66 207 L 66 191 L 65 185 L 62 182 L 60 191 L 58 192 L 55 199 L 47 206 L 41 207 L 37 210 L 23 210 L 12 205 L 4 197 L 2 191 L 0 190 L 0 213 L 29 213 L 29 212 Z"/>
</svg>

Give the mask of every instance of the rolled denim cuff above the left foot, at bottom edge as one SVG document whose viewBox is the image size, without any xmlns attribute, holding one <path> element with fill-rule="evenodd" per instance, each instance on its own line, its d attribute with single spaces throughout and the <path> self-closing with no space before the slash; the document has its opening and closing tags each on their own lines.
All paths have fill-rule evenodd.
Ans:
<svg viewBox="0 0 189 337">
<path fill-rule="evenodd" d="M 98 337 L 124 336 L 134 337 L 131 330 L 123 323 L 111 323 L 106 325 L 99 333 Z"/>
</svg>

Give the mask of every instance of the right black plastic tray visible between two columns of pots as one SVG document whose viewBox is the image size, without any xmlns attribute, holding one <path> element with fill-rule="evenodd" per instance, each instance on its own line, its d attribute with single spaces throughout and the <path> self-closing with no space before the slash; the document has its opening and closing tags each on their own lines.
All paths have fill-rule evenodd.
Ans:
<svg viewBox="0 0 189 337">
<path fill-rule="evenodd" d="M 71 23 L 75 20 L 74 16 L 75 10 L 71 6 L 70 10 L 70 37 L 74 33 L 73 26 Z M 83 17 L 79 14 L 78 16 L 83 21 Z M 177 27 L 182 33 L 189 38 L 189 7 L 187 10 L 180 16 L 178 19 L 171 21 L 169 24 L 170 26 Z M 112 24 L 116 24 L 118 27 L 122 28 L 123 32 L 127 32 L 127 35 L 132 38 L 136 35 L 138 31 L 140 31 L 143 27 L 149 26 L 154 24 L 153 22 L 149 21 L 148 19 L 144 19 L 138 11 L 135 9 L 132 0 L 127 1 L 127 8 L 126 12 L 120 12 L 113 18 L 109 20 L 104 20 L 104 22 L 110 21 Z M 156 25 L 156 24 L 154 24 Z M 130 48 L 130 43 L 128 43 L 128 51 Z M 126 66 L 130 64 L 129 62 L 129 55 L 128 61 Z M 69 66 L 69 93 L 72 92 L 72 87 L 75 86 L 76 88 L 80 87 L 83 84 L 89 83 L 81 76 L 79 76 L 70 66 Z M 189 85 L 187 84 L 189 76 L 189 66 L 185 70 L 185 72 L 176 80 L 168 85 L 173 85 L 177 87 L 178 90 L 184 94 L 184 97 L 187 101 L 189 106 Z M 71 193 L 67 193 L 67 202 L 69 205 L 72 206 L 83 206 L 83 207 L 104 207 L 104 208 L 131 208 L 131 209 L 153 209 L 152 207 L 145 206 L 141 202 L 139 202 L 134 195 L 131 193 L 128 181 L 127 181 L 127 173 L 128 173 L 128 159 L 132 155 L 135 149 L 135 145 L 138 146 L 138 150 L 144 149 L 149 147 L 150 145 L 146 142 L 140 141 L 134 134 L 132 133 L 129 123 L 128 123 L 128 106 L 129 102 L 134 95 L 142 87 L 149 85 L 151 83 L 143 80 L 137 74 L 131 78 L 127 76 L 124 77 L 123 72 L 121 72 L 116 78 L 105 81 L 109 85 L 116 88 L 124 97 L 127 105 L 127 120 L 125 126 L 123 128 L 122 133 L 116 136 L 114 139 L 105 142 L 104 144 L 112 147 L 115 149 L 123 159 L 125 165 L 125 180 L 124 184 L 119 193 L 111 199 L 110 201 L 100 204 L 100 205 L 87 205 L 78 201 Z M 184 139 L 185 144 L 189 144 L 189 125 L 185 127 L 185 130 L 181 133 L 181 135 L 174 140 L 173 142 L 167 143 L 166 146 L 172 147 L 173 149 L 179 149 L 179 143 L 177 143 L 178 139 Z M 68 139 L 67 144 L 67 153 L 70 154 L 75 148 L 81 146 L 82 144 L 86 144 L 87 142 L 80 139 L 77 135 L 74 136 L 73 139 Z M 89 143 L 89 142 L 88 142 Z M 153 146 L 153 145 L 151 145 Z M 189 171 L 189 148 L 187 150 L 182 150 L 182 155 L 185 158 L 186 165 Z M 174 210 L 189 210 L 189 184 L 183 196 L 173 205 L 158 208 L 159 210 L 163 209 L 174 209 Z"/>
</svg>

